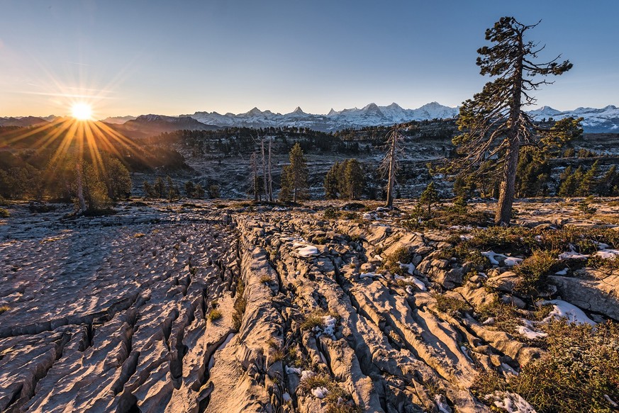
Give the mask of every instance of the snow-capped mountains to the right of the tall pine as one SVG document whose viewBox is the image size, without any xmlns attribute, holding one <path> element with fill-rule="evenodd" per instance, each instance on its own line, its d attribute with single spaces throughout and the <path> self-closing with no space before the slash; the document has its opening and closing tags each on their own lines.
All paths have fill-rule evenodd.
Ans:
<svg viewBox="0 0 619 413">
<path fill-rule="evenodd" d="M 605 108 L 576 108 L 574 111 L 557 111 L 550 106 L 542 106 L 529 115 L 535 120 L 559 120 L 563 118 L 584 118 L 582 121 L 585 132 L 619 132 L 619 108 L 608 105 Z"/>
</svg>

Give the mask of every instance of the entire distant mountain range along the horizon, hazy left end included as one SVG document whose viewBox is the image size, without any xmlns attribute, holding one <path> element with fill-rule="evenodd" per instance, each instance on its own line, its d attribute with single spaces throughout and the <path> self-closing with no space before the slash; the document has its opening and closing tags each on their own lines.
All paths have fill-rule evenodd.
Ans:
<svg viewBox="0 0 619 413">
<path fill-rule="evenodd" d="M 335 111 L 331 109 L 326 115 L 306 113 L 301 108 L 296 108 L 291 113 L 273 113 L 272 111 L 260 111 L 253 108 L 246 113 L 196 112 L 191 115 L 165 116 L 165 115 L 140 115 L 116 116 L 102 120 L 105 123 L 130 135 L 149 135 L 172 130 L 213 130 L 217 128 L 247 127 L 296 127 L 310 128 L 313 130 L 335 131 L 345 128 L 363 128 L 365 126 L 393 125 L 411 120 L 432 120 L 455 118 L 458 108 L 450 108 L 440 103 L 432 102 L 417 109 L 404 109 L 396 103 L 389 106 L 377 106 L 369 103 L 363 108 L 343 109 Z M 584 118 L 583 128 L 585 132 L 619 132 L 619 108 L 613 105 L 605 108 L 576 108 L 574 111 L 557 111 L 549 106 L 530 111 L 529 114 L 535 120 L 559 120 L 572 116 Z M 1 118 L 0 126 L 32 126 L 39 125 L 50 120 L 54 116 L 37 118 L 33 116 L 23 118 Z"/>
</svg>

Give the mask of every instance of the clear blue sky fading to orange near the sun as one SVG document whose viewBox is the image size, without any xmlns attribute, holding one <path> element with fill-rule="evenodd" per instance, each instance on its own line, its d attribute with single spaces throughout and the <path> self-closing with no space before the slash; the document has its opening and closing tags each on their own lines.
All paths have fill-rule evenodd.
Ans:
<svg viewBox="0 0 619 413">
<path fill-rule="evenodd" d="M 501 16 L 574 63 L 540 106 L 619 104 L 618 0 L 0 0 L 0 115 L 457 106 Z"/>
</svg>

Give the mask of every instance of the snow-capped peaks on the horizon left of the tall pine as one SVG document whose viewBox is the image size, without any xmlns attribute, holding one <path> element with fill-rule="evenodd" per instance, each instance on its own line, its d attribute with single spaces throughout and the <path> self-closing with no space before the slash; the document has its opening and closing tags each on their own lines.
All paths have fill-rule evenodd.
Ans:
<svg viewBox="0 0 619 413">
<path fill-rule="evenodd" d="M 450 108 L 433 102 L 421 106 L 418 109 L 403 109 L 396 103 L 389 106 L 378 106 L 369 103 L 363 108 L 343 109 L 335 111 L 331 109 L 327 115 L 313 115 L 305 113 L 297 107 L 291 113 L 282 115 L 271 111 L 260 111 L 253 108 L 246 113 L 226 113 L 221 115 L 217 112 L 196 112 L 191 116 L 201 123 L 221 127 L 246 126 L 253 128 L 294 126 L 298 128 L 311 128 L 315 130 L 340 130 L 344 128 L 362 128 L 364 126 L 393 125 L 410 120 L 429 120 L 435 118 L 453 118 L 457 115 L 458 108 Z M 185 115 L 186 116 L 186 115 Z"/>
</svg>

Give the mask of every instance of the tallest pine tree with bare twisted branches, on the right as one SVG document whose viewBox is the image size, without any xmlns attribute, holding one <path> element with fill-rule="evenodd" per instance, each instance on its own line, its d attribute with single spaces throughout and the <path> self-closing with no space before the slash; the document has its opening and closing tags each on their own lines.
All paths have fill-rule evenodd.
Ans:
<svg viewBox="0 0 619 413">
<path fill-rule="evenodd" d="M 530 92 L 551 82 L 536 80 L 537 75 L 559 75 L 571 69 L 569 61 L 557 63 L 559 57 L 536 63 L 536 43 L 525 41 L 525 33 L 537 24 L 526 26 L 513 17 L 503 17 L 486 30 L 486 40 L 493 45 L 481 47 L 476 64 L 482 75 L 495 77 L 484 89 L 465 101 L 457 121 L 462 135 L 454 138 L 458 152 L 469 167 L 498 157 L 502 168 L 497 225 L 509 225 L 515 196 L 515 179 L 520 147 L 540 140 L 539 127 L 532 123 L 523 106 L 535 103 Z"/>
</svg>

